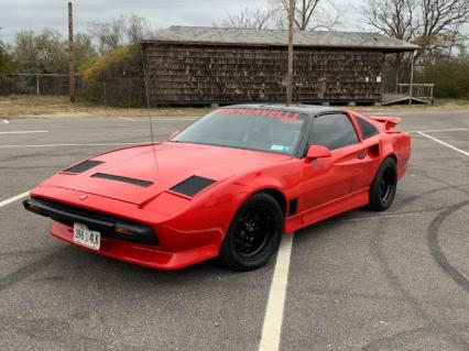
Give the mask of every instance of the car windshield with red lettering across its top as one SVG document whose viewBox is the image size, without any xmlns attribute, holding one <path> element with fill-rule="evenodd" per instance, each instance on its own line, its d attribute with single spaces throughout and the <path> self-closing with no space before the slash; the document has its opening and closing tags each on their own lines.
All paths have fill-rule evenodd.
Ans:
<svg viewBox="0 0 469 351">
<path fill-rule="evenodd" d="M 292 155 L 304 124 L 305 117 L 297 112 L 221 108 L 189 125 L 171 141 Z"/>
</svg>

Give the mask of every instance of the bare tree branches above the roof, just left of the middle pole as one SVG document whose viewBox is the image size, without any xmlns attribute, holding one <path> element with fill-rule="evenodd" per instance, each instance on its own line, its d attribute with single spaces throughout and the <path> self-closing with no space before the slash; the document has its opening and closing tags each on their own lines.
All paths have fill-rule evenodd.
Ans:
<svg viewBox="0 0 469 351">
<path fill-rule="evenodd" d="M 222 20 L 219 23 L 212 23 L 212 25 L 262 30 L 270 26 L 272 18 L 273 12 L 270 10 L 250 10 L 246 8 L 243 11 L 237 14 L 229 14 L 226 20 Z"/>
</svg>

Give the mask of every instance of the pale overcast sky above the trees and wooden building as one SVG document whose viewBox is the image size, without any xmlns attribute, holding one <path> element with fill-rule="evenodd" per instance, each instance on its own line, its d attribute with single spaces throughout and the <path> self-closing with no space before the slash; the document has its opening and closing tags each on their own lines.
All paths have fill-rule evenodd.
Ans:
<svg viewBox="0 0 469 351">
<path fill-rule="evenodd" d="M 334 2 L 340 11 L 343 24 L 338 30 L 363 30 L 359 24 L 359 7 L 366 0 L 324 2 L 326 1 Z M 75 31 L 86 31 L 89 22 L 110 21 L 121 14 L 144 17 L 153 30 L 171 25 L 211 25 L 229 13 L 237 13 L 246 8 L 268 7 L 269 0 L 75 0 Z M 10 43 L 14 40 L 14 34 L 23 29 L 39 32 L 44 28 L 52 28 L 65 35 L 67 1 L 0 0 L 0 40 Z"/>
</svg>

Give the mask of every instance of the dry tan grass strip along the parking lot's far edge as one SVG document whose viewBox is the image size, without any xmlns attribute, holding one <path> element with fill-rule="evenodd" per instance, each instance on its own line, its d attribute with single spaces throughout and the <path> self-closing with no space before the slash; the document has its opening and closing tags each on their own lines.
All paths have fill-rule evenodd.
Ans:
<svg viewBox="0 0 469 351">
<path fill-rule="evenodd" d="M 469 110 L 469 100 L 436 100 L 433 106 L 356 107 L 361 111 Z M 67 97 L 0 97 L 0 118 L 21 117 L 199 117 L 210 108 L 105 108 L 87 102 L 69 102 Z"/>
</svg>

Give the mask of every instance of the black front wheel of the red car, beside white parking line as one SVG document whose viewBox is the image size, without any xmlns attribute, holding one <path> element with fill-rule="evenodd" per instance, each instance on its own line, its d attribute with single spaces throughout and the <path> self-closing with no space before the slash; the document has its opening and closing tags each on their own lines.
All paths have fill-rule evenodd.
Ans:
<svg viewBox="0 0 469 351">
<path fill-rule="evenodd" d="M 250 197 L 238 210 L 219 259 L 233 271 L 251 271 L 265 265 L 277 251 L 283 234 L 283 212 L 279 202 L 264 193 Z"/>
</svg>

